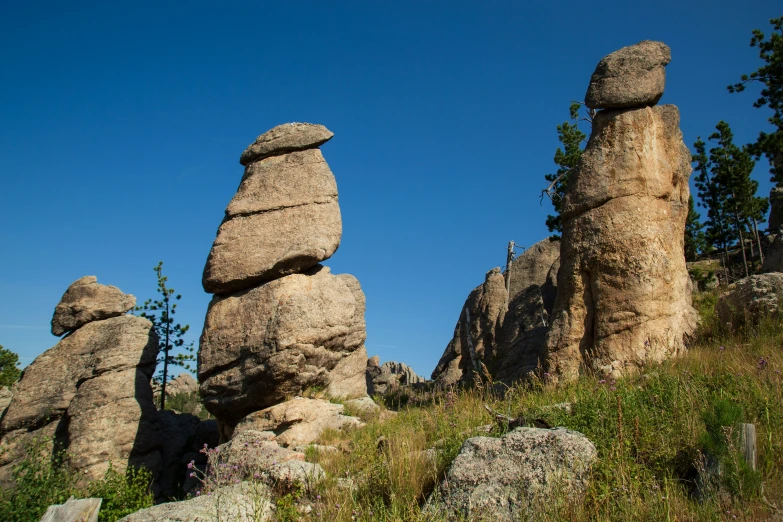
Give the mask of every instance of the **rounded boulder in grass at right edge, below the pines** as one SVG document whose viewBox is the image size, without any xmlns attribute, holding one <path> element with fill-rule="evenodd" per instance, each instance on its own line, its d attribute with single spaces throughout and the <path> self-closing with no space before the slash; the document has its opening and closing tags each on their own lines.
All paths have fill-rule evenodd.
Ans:
<svg viewBox="0 0 783 522">
<path fill-rule="evenodd" d="M 783 274 L 772 272 L 740 279 L 718 298 L 715 311 L 724 325 L 737 328 L 779 313 L 783 305 Z"/>
</svg>

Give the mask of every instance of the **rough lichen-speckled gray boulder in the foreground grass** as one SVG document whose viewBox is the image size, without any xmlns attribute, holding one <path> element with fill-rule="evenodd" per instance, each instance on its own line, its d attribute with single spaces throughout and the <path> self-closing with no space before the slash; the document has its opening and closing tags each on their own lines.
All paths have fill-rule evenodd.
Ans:
<svg viewBox="0 0 783 522">
<path fill-rule="evenodd" d="M 465 441 L 426 510 L 448 520 L 535 519 L 542 507 L 575 502 L 597 458 L 581 433 L 517 428 Z"/>
</svg>

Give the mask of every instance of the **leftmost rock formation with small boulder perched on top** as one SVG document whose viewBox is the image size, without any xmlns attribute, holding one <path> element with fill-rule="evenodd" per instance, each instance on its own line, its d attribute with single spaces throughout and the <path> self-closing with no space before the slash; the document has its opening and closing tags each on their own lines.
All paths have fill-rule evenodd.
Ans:
<svg viewBox="0 0 783 522">
<path fill-rule="evenodd" d="M 157 473 L 161 441 L 150 379 L 158 339 L 147 319 L 125 315 L 135 303 L 94 276 L 68 287 L 52 318 L 52 333 L 68 335 L 25 368 L 0 421 L 0 482 L 26 452 L 54 445 L 68 451 L 85 480 L 103 477 L 109 464 Z"/>
</svg>

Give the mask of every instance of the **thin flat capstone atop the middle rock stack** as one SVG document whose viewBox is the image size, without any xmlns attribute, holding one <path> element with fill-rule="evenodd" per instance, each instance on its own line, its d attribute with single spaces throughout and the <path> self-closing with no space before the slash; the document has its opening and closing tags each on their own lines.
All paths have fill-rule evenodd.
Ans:
<svg viewBox="0 0 783 522">
<path fill-rule="evenodd" d="M 239 163 L 249 165 L 273 154 L 320 147 L 333 136 L 334 133 L 323 125 L 284 123 L 256 138 L 242 153 Z"/>
</svg>

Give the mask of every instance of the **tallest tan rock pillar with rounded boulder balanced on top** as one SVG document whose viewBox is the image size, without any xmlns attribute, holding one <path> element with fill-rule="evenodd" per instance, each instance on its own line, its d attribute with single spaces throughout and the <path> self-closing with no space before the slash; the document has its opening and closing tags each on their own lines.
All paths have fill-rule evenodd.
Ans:
<svg viewBox="0 0 783 522">
<path fill-rule="evenodd" d="M 683 254 L 690 152 L 677 107 L 656 106 L 670 60 L 666 45 L 644 41 L 606 56 L 590 80 L 585 103 L 601 110 L 561 213 L 553 380 L 662 361 L 695 327 Z"/>
</svg>

